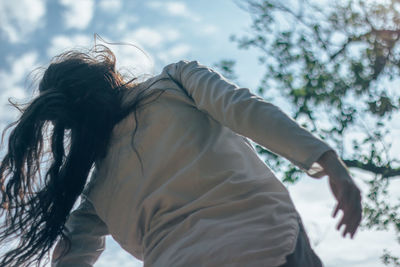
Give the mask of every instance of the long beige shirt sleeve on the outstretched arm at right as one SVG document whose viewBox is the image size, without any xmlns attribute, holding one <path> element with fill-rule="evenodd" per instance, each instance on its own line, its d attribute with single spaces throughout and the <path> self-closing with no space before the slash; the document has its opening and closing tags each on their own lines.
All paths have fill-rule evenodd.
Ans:
<svg viewBox="0 0 400 267">
<path fill-rule="evenodd" d="M 197 61 L 180 61 L 163 71 L 186 91 L 199 110 L 222 125 L 285 157 L 310 176 L 324 175 L 316 160 L 332 148 L 277 106 Z"/>
</svg>

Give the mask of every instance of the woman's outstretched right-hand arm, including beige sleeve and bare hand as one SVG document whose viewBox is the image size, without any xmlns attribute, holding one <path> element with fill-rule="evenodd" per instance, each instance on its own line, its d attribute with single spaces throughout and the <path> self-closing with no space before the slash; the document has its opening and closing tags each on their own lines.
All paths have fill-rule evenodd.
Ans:
<svg viewBox="0 0 400 267">
<path fill-rule="evenodd" d="M 277 106 L 239 88 L 197 61 L 180 61 L 164 68 L 180 84 L 197 108 L 222 125 L 290 160 L 312 177 L 329 176 L 338 201 L 334 211 L 343 217 L 343 236 L 354 236 L 361 220 L 360 190 L 333 149 L 287 116 Z M 314 168 L 315 167 L 315 168 Z"/>
</svg>

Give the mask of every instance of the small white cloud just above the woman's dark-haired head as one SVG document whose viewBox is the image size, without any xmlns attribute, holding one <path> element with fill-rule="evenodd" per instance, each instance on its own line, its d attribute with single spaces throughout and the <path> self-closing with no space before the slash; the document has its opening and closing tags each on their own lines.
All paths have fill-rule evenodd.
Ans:
<svg viewBox="0 0 400 267">
<path fill-rule="evenodd" d="M 58 35 L 51 39 L 50 47 L 47 49 L 47 55 L 54 57 L 70 49 L 87 49 L 92 45 L 93 37 L 83 34 L 73 36 Z"/>
</svg>

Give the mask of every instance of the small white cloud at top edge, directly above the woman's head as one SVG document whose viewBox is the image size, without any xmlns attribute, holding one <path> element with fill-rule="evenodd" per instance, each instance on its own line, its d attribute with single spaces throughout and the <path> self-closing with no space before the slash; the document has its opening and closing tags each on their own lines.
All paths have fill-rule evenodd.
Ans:
<svg viewBox="0 0 400 267">
<path fill-rule="evenodd" d="M 64 23 L 67 28 L 85 29 L 89 26 L 94 13 L 93 0 L 61 0 L 65 6 Z"/>
</svg>

